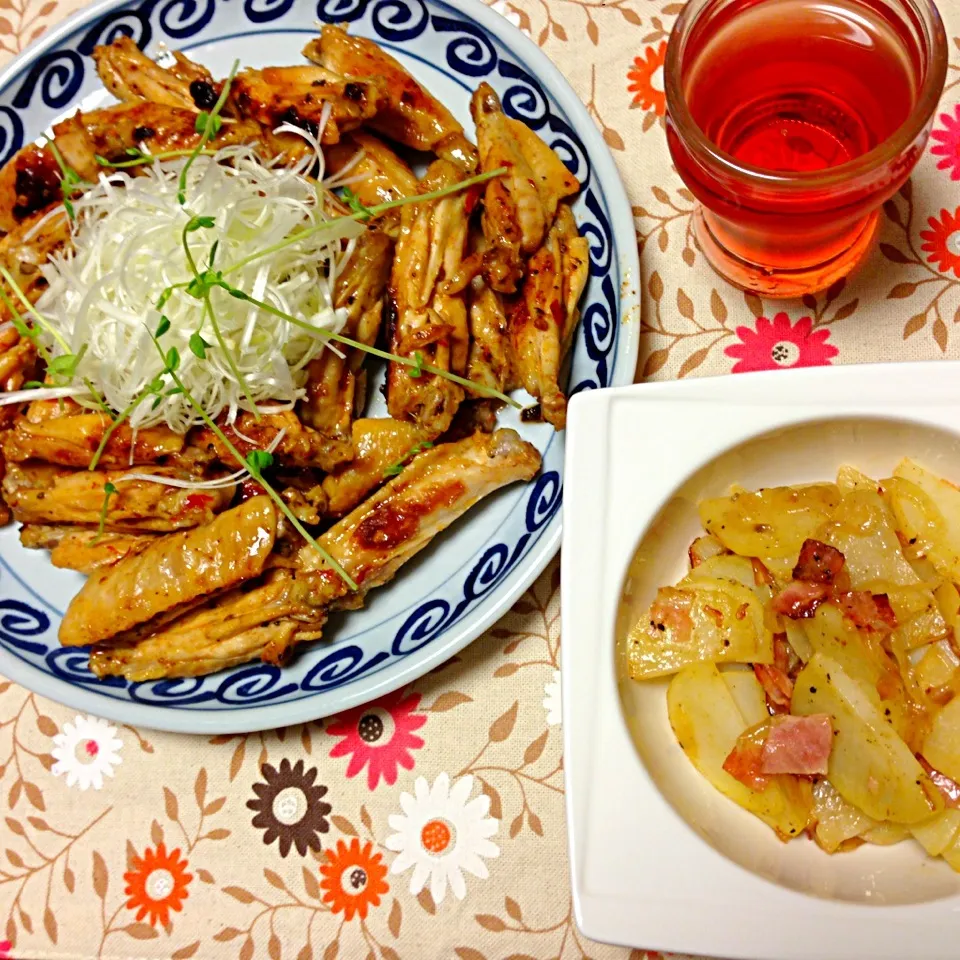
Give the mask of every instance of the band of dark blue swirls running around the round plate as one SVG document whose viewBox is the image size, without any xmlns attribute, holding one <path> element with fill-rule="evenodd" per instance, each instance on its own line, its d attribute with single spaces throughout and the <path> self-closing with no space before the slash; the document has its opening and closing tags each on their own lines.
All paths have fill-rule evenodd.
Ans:
<svg viewBox="0 0 960 960">
<path fill-rule="evenodd" d="M 319 0 L 316 6 L 304 0 L 242 0 L 242 7 L 231 0 L 114 4 L 95 22 L 88 21 L 54 49 L 36 56 L 0 90 L 0 163 L 65 108 L 98 88 L 89 59 L 96 44 L 126 35 L 141 47 L 163 41 L 171 47 L 189 48 L 216 44 L 227 34 L 224 43 L 257 35 L 265 24 L 274 32 L 306 33 L 315 18 L 348 22 L 354 32 L 384 42 L 401 57 L 405 50 L 419 56 L 418 50 L 429 41 L 430 60 L 424 62 L 469 89 L 481 80 L 491 83 L 505 111 L 536 130 L 579 178 L 583 190 L 575 209 L 590 244 L 590 283 L 582 304 L 571 392 L 607 386 L 617 358 L 621 278 L 609 208 L 595 183 L 588 151 L 568 117 L 525 64 L 495 35 L 441 0 Z M 185 43 L 187 40 L 190 43 Z M 438 49 L 443 50 L 442 64 L 436 56 Z M 562 441 L 551 437 L 542 444 L 542 452 L 541 474 L 515 493 L 507 521 L 474 556 L 464 558 L 458 569 L 446 571 L 446 579 L 412 607 L 365 630 L 362 641 L 316 644 L 304 651 L 294 667 L 280 670 L 256 664 L 198 679 L 129 683 L 114 677 L 99 681 L 88 669 L 84 649 L 58 645 L 59 618 L 40 609 L 51 607 L 50 598 L 14 573 L 16 559 L 9 551 L 0 558 L 4 568 L 0 573 L 0 646 L 71 687 L 165 710 L 230 712 L 285 704 L 363 681 L 438 643 L 493 598 L 511 575 L 521 571 L 536 542 L 551 527 L 563 497 Z M 447 541 L 444 549 L 451 545 Z M 61 605 L 66 600 L 57 599 Z M 229 725 L 226 714 L 224 719 Z"/>
</svg>

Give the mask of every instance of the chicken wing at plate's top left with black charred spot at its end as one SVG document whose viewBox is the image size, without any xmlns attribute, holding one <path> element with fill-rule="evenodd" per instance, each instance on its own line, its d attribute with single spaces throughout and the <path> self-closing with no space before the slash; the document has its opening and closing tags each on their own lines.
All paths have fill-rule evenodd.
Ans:
<svg viewBox="0 0 960 960">
<path fill-rule="evenodd" d="M 103 85 L 118 99 L 125 102 L 150 100 L 167 107 L 209 110 L 218 96 L 213 87 L 213 78 L 198 64 L 187 60 L 182 54 L 180 71 L 168 70 L 151 60 L 130 37 L 117 37 L 113 43 L 93 48 L 93 60 Z M 179 75 L 178 75 L 179 73 Z M 195 88 L 203 100 L 191 91 L 192 83 L 202 83 Z M 210 94 L 212 93 L 212 99 Z"/>
</svg>

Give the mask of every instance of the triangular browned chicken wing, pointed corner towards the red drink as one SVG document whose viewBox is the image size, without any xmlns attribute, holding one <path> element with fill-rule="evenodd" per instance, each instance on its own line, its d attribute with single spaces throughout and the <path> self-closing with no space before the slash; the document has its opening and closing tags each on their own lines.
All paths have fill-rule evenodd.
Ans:
<svg viewBox="0 0 960 960">
<path fill-rule="evenodd" d="M 489 84 L 477 88 L 470 111 L 477 125 L 481 170 L 507 168 L 503 176 L 487 182 L 482 222 L 490 242 L 485 255 L 490 285 L 513 293 L 523 276 L 524 258 L 543 243 L 560 200 L 576 193 L 580 184 L 532 130 L 504 114 Z"/>
</svg>

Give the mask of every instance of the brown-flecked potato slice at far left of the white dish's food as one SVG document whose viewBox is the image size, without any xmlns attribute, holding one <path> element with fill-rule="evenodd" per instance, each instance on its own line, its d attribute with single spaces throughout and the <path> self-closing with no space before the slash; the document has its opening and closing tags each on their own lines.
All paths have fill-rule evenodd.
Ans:
<svg viewBox="0 0 960 960">
<path fill-rule="evenodd" d="M 691 578 L 663 587 L 627 637 L 630 675 L 661 677 L 702 660 L 772 663 L 773 634 L 764 619 L 753 590 L 732 580 Z"/>
</svg>

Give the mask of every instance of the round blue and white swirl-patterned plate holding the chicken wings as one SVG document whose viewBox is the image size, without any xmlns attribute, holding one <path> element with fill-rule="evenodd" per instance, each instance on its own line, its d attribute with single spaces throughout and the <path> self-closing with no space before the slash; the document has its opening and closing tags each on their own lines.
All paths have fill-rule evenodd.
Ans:
<svg viewBox="0 0 960 960">
<path fill-rule="evenodd" d="M 583 190 L 575 205 L 591 249 L 570 390 L 633 380 L 639 335 L 636 238 L 630 206 L 584 106 L 540 50 L 478 0 L 106 0 L 53 30 L 0 76 L 0 162 L 80 103 L 109 102 L 89 58 L 120 34 L 157 53 L 188 51 L 216 75 L 303 62 L 316 21 L 348 23 L 397 57 L 472 130 L 469 102 L 483 80 L 504 109 L 563 157 Z M 563 435 L 515 426 L 543 453 L 529 484 L 474 508 L 365 610 L 331 618 L 324 640 L 282 669 L 251 664 L 191 680 L 102 681 L 83 649 L 57 642 L 82 577 L 0 532 L 0 672 L 80 710 L 184 733 L 260 730 L 327 716 L 416 679 L 506 613 L 560 545 Z"/>
</svg>

